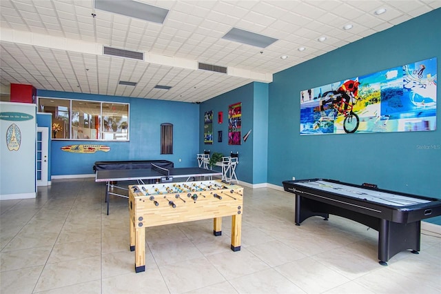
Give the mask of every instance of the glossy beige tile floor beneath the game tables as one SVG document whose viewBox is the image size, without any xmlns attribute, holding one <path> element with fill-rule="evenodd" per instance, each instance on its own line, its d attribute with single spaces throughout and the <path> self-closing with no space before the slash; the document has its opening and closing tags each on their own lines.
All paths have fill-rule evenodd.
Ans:
<svg viewBox="0 0 441 294">
<path fill-rule="evenodd" d="M 441 293 L 441 238 L 380 266 L 378 233 L 348 219 L 294 225 L 294 195 L 245 188 L 242 249 L 231 217 L 147 228 L 146 270 L 134 272 L 127 199 L 104 184 L 57 179 L 37 199 L 0 202 L 1 293 Z"/>
</svg>

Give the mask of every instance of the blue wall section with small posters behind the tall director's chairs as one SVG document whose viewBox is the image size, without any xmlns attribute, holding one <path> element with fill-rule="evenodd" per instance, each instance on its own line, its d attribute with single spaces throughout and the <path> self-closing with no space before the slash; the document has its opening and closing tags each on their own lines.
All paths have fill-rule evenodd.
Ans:
<svg viewBox="0 0 441 294">
<path fill-rule="evenodd" d="M 228 106 L 242 103 L 242 134 L 240 145 L 228 145 Z M 239 164 L 236 175 L 240 181 L 250 184 L 265 183 L 267 181 L 267 105 L 268 84 L 251 83 L 223 95 L 214 97 L 200 104 L 199 110 L 199 153 L 210 150 L 210 153 L 239 153 Z M 204 144 L 204 114 L 213 110 L 213 144 Z M 223 124 L 218 124 L 218 112 L 223 112 Z M 218 131 L 223 133 L 222 142 L 218 142 Z M 252 130 L 247 141 L 243 136 Z M 262 162 L 256 164 L 256 160 Z M 196 161 L 196 154 L 194 155 Z M 214 167 L 214 169 L 220 169 Z"/>
</svg>

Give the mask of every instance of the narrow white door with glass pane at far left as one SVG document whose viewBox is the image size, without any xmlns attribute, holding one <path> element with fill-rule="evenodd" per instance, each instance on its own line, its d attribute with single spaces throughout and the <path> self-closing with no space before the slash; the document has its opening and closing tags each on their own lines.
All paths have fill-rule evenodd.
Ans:
<svg viewBox="0 0 441 294">
<path fill-rule="evenodd" d="M 48 186 L 49 128 L 37 128 L 37 186 Z"/>
</svg>

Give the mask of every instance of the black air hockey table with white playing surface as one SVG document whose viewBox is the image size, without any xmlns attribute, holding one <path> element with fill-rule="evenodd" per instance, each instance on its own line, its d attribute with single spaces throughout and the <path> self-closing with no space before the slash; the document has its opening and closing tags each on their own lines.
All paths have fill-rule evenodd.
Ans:
<svg viewBox="0 0 441 294">
<path fill-rule="evenodd" d="M 329 214 L 365 224 L 378 231 L 378 259 L 387 261 L 400 251 L 420 251 L 421 220 L 441 215 L 441 199 L 398 193 L 332 179 L 284 181 L 296 195 L 297 226 L 308 217 Z"/>
</svg>

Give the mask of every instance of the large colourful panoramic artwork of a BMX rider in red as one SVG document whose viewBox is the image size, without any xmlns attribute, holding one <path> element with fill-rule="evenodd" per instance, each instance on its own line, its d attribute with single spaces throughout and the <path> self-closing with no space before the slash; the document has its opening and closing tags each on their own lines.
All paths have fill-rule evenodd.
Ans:
<svg viewBox="0 0 441 294">
<path fill-rule="evenodd" d="M 300 135 L 436 129 L 436 58 L 300 92 Z"/>
</svg>

